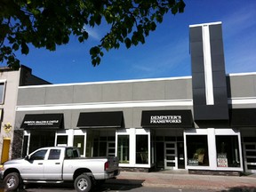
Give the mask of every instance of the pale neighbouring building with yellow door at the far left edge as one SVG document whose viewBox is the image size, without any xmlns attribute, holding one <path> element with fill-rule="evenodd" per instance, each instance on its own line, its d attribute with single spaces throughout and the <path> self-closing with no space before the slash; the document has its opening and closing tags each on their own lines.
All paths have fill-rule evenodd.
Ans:
<svg viewBox="0 0 256 192">
<path fill-rule="evenodd" d="M 12 150 L 12 144 L 14 132 L 17 133 L 16 136 L 19 135 L 18 129 L 14 129 L 18 87 L 31 84 L 50 83 L 32 75 L 32 70 L 25 66 L 21 66 L 19 70 L 0 68 L 0 164 L 10 159 L 12 154 L 15 156 L 16 151 Z"/>
</svg>

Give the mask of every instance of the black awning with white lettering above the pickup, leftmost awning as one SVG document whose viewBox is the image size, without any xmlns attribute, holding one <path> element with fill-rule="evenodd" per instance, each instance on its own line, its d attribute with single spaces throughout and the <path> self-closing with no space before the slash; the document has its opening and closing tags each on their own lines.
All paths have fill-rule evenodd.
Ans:
<svg viewBox="0 0 256 192">
<path fill-rule="evenodd" d="M 20 128 L 60 129 L 63 128 L 63 114 L 27 114 Z"/>
</svg>

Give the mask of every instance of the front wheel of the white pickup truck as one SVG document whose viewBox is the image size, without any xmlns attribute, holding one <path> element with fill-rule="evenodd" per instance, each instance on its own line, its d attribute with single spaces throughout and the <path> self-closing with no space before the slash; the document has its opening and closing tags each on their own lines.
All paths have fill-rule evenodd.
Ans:
<svg viewBox="0 0 256 192">
<path fill-rule="evenodd" d="M 4 178 L 4 188 L 6 191 L 14 191 L 20 185 L 20 175 L 18 172 L 11 172 Z"/>
</svg>

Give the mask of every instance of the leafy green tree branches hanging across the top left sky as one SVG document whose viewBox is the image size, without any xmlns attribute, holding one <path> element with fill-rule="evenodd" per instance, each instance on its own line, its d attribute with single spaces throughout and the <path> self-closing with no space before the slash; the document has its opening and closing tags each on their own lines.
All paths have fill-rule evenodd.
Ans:
<svg viewBox="0 0 256 192">
<path fill-rule="evenodd" d="M 0 62 L 20 68 L 15 52 L 28 54 L 28 44 L 55 51 L 68 44 L 69 36 L 80 43 L 89 37 L 85 27 L 109 25 L 108 33 L 90 49 L 92 65 L 100 64 L 104 52 L 144 44 L 164 14 L 183 12 L 183 0 L 1 0 Z"/>
</svg>

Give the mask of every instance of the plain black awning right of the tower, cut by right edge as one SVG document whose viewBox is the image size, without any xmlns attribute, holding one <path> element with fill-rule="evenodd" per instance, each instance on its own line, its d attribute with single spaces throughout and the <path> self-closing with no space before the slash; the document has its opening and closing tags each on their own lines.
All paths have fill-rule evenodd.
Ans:
<svg viewBox="0 0 256 192">
<path fill-rule="evenodd" d="M 229 113 L 231 127 L 256 127 L 256 108 L 232 108 Z"/>
</svg>

